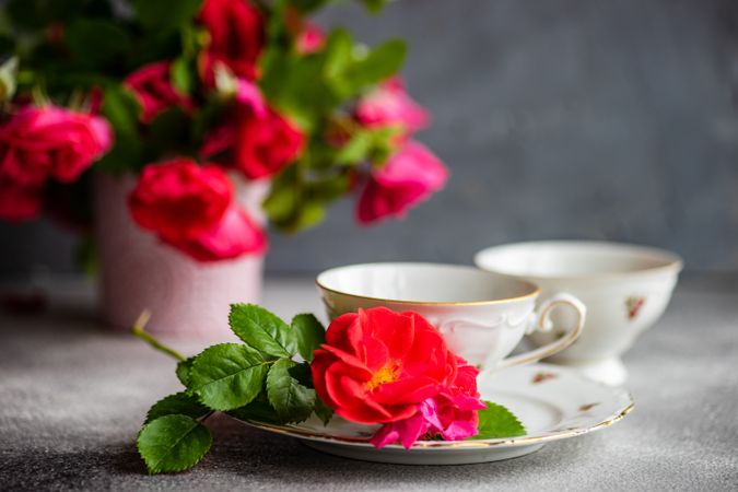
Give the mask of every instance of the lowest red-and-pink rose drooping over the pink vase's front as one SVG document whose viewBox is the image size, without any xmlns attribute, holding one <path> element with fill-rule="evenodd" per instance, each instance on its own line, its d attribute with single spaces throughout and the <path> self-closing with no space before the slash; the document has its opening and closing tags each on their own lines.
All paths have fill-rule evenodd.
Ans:
<svg viewBox="0 0 738 492">
<path fill-rule="evenodd" d="M 231 181 L 215 165 L 177 159 L 144 167 L 128 200 L 142 229 L 199 261 L 267 247 L 263 232 L 233 203 Z"/>
</svg>

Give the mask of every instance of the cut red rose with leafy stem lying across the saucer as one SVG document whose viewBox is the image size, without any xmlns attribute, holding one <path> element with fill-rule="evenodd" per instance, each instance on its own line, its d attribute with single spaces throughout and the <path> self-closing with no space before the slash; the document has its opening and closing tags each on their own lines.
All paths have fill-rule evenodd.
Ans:
<svg viewBox="0 0 738 492">
<path fill-rule="evenodd" d="M 288 325 L 247 304 L 231 306 L 230 325 L 244 343 L 222 343 L 185 359 L 143 331 L 134 332 L 178 359 L 185 390 L 147 414 L 138 449 L 151 473 L 192 467 L 212 443 L 202 424 L 214 411 L 278 425 L 333 413 L 366 424 L 376 447 L 418 440 L 458 441 L 522 435 L 507 409 L 482 401 L 479 371 L 455 355 L 418 313 L 376 307 L 336 318 L 327 330 L 313 315 Z"/>
</svg>

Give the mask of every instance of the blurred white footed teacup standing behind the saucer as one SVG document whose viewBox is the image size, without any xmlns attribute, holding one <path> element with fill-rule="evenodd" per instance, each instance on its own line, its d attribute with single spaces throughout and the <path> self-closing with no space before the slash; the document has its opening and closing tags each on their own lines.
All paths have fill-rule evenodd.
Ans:
<svg viewBox="0 0 738 492">
<path fill-rule="evenodd" d="M 660 249 L 577 241 L 496 246 L 479 251 L 475 262 L 511 279 L 535 282 L 543 295 L 566 291 L 581 298 L 587 306 L 584 335 L 553 361 L 611 385 L 625 380 L 620 356 L 661 316 L 682 267 L 681 258 Z M 565 317 L 557 313 L 554 320 Z M 529 339 L 546 345 L 557 335 L 554 330 Z"/>
</svg>

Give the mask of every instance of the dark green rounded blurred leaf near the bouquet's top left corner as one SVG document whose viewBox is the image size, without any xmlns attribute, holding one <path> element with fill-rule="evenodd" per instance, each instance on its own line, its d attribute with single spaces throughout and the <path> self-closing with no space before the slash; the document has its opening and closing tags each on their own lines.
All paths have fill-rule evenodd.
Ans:
<svg viewBox="0 0 738 492">
<path fill-rule="evenodd" d="M 117 68 L 133 48 L 126 30 L 101 19 L 77 19 L 65 27 L 65 40 L 72 57 L 90 68 Z"/>
</svg>

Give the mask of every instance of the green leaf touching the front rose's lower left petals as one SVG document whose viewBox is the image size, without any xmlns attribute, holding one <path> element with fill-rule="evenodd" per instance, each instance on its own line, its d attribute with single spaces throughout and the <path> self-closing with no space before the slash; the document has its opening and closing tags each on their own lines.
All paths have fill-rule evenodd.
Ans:
<svg viewBox="0 0 738 492">
<path fill-rule="evenodd" d="M 280 359 L 267 375 L 267 396 L 284 422 L 302 422 L 311 417 L 315 406 L 315 389 L 306 388 L 292 377 L 290 368 L 297 365 L 289 359 Z"/>
</svg>

